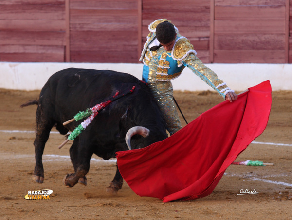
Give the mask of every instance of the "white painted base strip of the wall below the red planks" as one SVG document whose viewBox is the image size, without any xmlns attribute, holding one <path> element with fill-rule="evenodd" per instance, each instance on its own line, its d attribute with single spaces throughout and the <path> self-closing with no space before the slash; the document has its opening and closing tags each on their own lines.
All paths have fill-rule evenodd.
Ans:
<svg viewBox="0 0 292 220">
<path fill-rule="evenodd" d="M 206 64 L 221 80 L 236 91 L 243 91 L 270 80 L 272 90 L 292 90 L 292 64 Z M 0 88 L 40 90 L 55 72 L 70 68 L 108 69 L 125 72 L 142 79 L 143 64 L 132 63 L 17 63 L 0 62 Z M 212 90 L 188 68 L 172 80 L 175 90 Z"/>
</svg>

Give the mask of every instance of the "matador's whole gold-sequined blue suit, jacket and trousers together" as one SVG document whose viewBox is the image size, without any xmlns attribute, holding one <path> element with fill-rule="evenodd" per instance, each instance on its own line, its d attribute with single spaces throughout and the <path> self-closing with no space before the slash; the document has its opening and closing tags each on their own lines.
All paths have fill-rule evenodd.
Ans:
<svg viewBox="0 0 292 220">
<path fill-rule="evenodd" d="M 223 98 L 231 90 L 227 87 L 226 83 L 217 77 L 216 73 L 198 59 L 194 46 L 188 39 L 178 33 L 176 27 L 177 39 L 171 50 L 170 57 L 173 59 L 172 61 L 175 61 L 179 69 L 177 67 L 173 68 L 173 63 L 169 59 L 168 61 L 166 60 L 168 54 L 165 53 L 163 48 L 157 51 L 149 50 L 148 46 L 156 36 L 156 26 L 163 21 L 165 19 L 155 20 L 148 26 L 150 33 L 147 36 L 140 60 L 143 60 L 143 63 L 149 67 L 148 85 L 164 114 L 167 130 L 172 135 L 180 130 L 182 125 L 173 100 L 173 87 L 170 80 L 180 76 L 185 66 L 214 88 Z"/>
</svg>

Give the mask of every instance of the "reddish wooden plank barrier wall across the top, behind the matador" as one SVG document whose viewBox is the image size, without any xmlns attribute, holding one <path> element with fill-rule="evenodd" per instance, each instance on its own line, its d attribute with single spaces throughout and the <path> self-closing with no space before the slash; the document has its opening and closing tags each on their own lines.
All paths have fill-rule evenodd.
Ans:
<svg viewBox="0 0 292 220">
<path fill-rule="evenodd" d="M 205 63 L 290 63 L 290 15 L 292 0 L 0 0 L 0 61 L 137 63 L 167 18 Z"/>
</svg>

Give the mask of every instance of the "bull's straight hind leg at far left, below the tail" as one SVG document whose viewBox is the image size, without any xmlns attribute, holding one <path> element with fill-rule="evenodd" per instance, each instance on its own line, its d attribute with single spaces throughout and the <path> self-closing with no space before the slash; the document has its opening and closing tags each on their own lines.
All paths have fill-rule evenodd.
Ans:
<svg viewBox="0 0 292 220">
<path fill-rule="evenodd" d="M 45 144 L 49 139 L 50 131 L 54 123 L 46 123 L 44 121 L 37 122 L 37 135 L 34 141 L 36 165 L 33 173 L 33 180 L 37 183 L 43 183 L 44 181 L 44 168 L 42 164 L 42 155 L 44 152 Z"/>
</svg>

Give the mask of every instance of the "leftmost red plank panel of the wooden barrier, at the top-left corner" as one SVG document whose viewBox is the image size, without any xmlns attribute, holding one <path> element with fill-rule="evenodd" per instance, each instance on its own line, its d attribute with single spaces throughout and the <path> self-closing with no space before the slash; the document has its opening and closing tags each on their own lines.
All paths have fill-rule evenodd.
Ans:
<svg viewBox="0 0 292 220">
<path fill-rule="evenodd" d="M 64 0 L 2 0 L 0 11 L 0 61 L 64 61 Z"/>
</svg>

